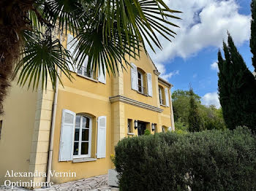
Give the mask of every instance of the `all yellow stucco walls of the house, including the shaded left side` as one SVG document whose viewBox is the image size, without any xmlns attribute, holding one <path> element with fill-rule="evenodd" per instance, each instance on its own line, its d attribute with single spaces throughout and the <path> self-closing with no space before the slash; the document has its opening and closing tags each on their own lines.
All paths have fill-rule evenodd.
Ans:
<svg viewBox="0 0 256 191">
<path fill-rule="evenodd" d="M 66 42 L 64 41 L 64 46 L 65 45 Z M 152 97 L 142 95 L 137 91 L 132 90 L 131 70 L 129 67 L 127 68 L 127 71 L 120 72 L 116 77 L 113 77 L 112 74 L 110 76 L 107 74 L 106 84 L 98 82 L 97 77 L 94 80 L 91 80 L 85 77 L 80 77 L 78 74 L 75 74 L 75 72 L 72 72 L 74 79 L 70 82 L 64 74 L 61 74 L 61 82 L 64 86 L 59 84 L 53 137 L 52 171 L 71 171 L 75 172 L 76 176 L 53 176 L 51 181 L 61 183 L 100 174 L 107 174 L 108 169 L 113 168 L 110 155 L 114 154 L 114 146 L 117 142 L 125 136 L 138 135 L 138 129 L 135 130 L 134 128 L 135 120 L 146 122 L 146 128 L 148 130 L 151 130 L 151 123 L 155 123 L 156 130 L 154 132 L 151 130 L 151 133 L 162 132 L 162 126 L 172 126 L 170 119 L 172 114 L 171 106 L 160 106 L 159 104 L 159 77 L 157 76 L 157 73 L 154 72 L 154 70 L 156 70 L 154 64 L 145 52 L 141 52 L 139 61 L 132 59 L 130 62 L 135 63 L 135 65 L 145 73 L 151 73 Z M 144 77 L 144 85 L 146 86 L 146 77 Z M 162 86 L 168 88 L 170 98 L 170 86 Z M 110 98 L 118 95 L 138 101 L 140 104 L 143 103 L 148 106 L 154 106 L 154 108 L 162 109 L 162 112 L 141 108 L 140 106 L 127 104 L 122 101 L 111 103 Z M 12 87 L 10 96 L 5 104 L 7 107 L 7 116 L 4 118 L 2 139 L 0 140 L 0 152 L 8 154 L 7 156 L 1 155 L 0 175 L 7 169 L 13 169 L 16 164 L 18 164 L 19 171 L 46 171 L 53 90 L 48 90 L 48 94 L 44 94 L 41 97 L 41 105 L 37 106 L 37 102 L 39 101 L 37 93 L 31 93 L 31 91 L 20 89 L 20 87 Z M 26 112 L 23 111 L 24 108 L 26 108 Z M 35 112 L 36 108 L 38 110 L 37 112 Z M 73 163 L 73 161 L 59 162 L 61 115 L 63 109 L 69 109 L 76 114 L 88 114 L 92 118 L 91 157 L 96 157 L 97 152 L 97 117 L 107 117 L 105 158 L 81 163 Z M 15 116 L 15 120 L 12 119 L 13 116 Z M 43 118 L 45 116 L 46 118 Z M 128 119 L 132 120 L 131 133 L 134 133 L 134 135 L 127 134 Z M 16 132 L 17 134 L 15 134 Z M 42 137 L 44 139 L 42 139 Z M 20 143 L 20 139 L 23 140 L 22 143 Z M 17 152 L 9 152 L 10 150 L 17 150 Z M 26 161 L 29 160 L 29 158 L 33 161 L 30 164 Z M 2 161 L 8 165 L 2 165 Z M 37 179 L 37 181 L 45 181 L 45 178 Z"/>
</svg>

